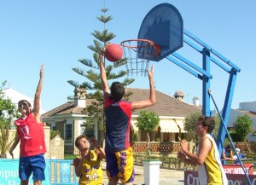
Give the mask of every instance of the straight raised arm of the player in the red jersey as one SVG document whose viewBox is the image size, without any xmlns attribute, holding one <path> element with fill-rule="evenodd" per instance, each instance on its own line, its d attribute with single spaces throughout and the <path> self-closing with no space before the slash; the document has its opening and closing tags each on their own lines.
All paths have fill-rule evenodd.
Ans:
<svg viewBox="0 0 256 185">
<path fill-rule="evenodd" d="M 38 87 L 34 97 L 33 113 L 38 123 L 41 122 L 39 112 L 40 112 L 40 95 L 41 95 L 41 90 L 43 85 L 43 77 L 44 77 L 44 65 L 42 65 L 40 69 L 40 78 L 39 78 Z"/>
</svg>

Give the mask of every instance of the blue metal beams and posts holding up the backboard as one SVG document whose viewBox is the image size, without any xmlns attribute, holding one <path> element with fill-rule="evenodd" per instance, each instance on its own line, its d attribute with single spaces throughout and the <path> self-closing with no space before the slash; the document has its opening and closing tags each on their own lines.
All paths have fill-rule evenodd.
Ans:
<svg viewBox="0 0 256 185">
<path fill-rule="evenodd" d="M 207 43 L 204 43 L 201 41 L 201 39 L 195 37 L 191 32 L 188 32 L 186 30 L 183 30 L 183 42 L 187 43 L 191 48 L 195 49 L 202 55 L 202 67 L 196 66 L 195 63 L 192 61 L 189 61 L 182 55 L 177 54 L 177 52 L 173 52 L 171 55 L 166 56 L 166 59 L 169 61 L 172 61 L 177 66 L 180 66 L 185 71 L 191 73 L 196 78 L 201 79 L 202 81 L 202 114 L 205 116 L 213 116 L 213 111 L 210 109 L 210 99 L 212 97 L 211 95 L 211 61 L 222 68 L 225 72 L 228 72 L 230 74 L 225 100 L 224 100 L 224 107 L 222 114 L 219 114 L 219 117 L 221 119 L 221 124 L 219 126 L 218 130 L 218 138 L 217 138 L 217 147 L 218 147 L 218 153 L 222 154 L 222 150 L 224 148 L 224 138 L 227 134 L 230 138 L 230 142 L 232 143 L 232 146 L 234 147 L 234 144 L 231 140 L 229 131 L 227 130 L 226 126 L 228 124 L 229 118 L 230 118 L 230 109 L 231 109 L 231 103 L 234 95 L 235 90 L 235 84 L 236 84 L 236 75 L 237 72 L 240 72 L 240 68 L 236 66 L 234 63 L 232 63 L 230 60 L 226 59 L 224 55 L 220 55 L 215 49 L 212 49 Z M 217 57 L 217 59 L 216 59 Z M 229 68 L 230 67 L 230 68 Z M 212 97 L 212 101 L 214 103 L 214 106 L 218 110 L 218 107 Z M 241 163 L 242 165 L 242 163 Z M 246 171 L 243 168 L 245 174 Z M 247 174 L 246 174 L 247 176 Z M 251 184 L 249 177 L 247 176 L 247 182 Z"/>
</svg>

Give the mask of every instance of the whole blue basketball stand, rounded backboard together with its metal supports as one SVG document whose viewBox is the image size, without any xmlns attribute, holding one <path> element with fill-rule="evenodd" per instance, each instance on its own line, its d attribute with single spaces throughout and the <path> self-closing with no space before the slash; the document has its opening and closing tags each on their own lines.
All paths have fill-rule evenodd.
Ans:
<svg viewBox="0 0 256 185">
<path fill-rule="evenodd" d="M 216 142 L 218 152 L 221 155 L 225 136 L 229 137 L 230 143 L 235 148 L 226 125 L 229 121 L 236 75 L 240 72 L 240 68 L 225 58 L 224 55 L 219 54 L 217 50 L 212 49 L 207 43 L 201 41 L 200 38 L 195 37 L 194 34 L 183 29 L 183 19 L 172 4 L 162 3 L 151 9 L 143 19 L 137 39 L 148 39 L 153 42 L 154 46 L 160 46 L 160 55 L 150 55 L 151 57 L 148 61 L 160 61 L 166 58 L 202 81 L 202 114 L 207 117 L 215 115 L 215 112 L 210 109 L 210 100 L 212 100 L 221 119 Z M 176 52 L 177 49 L 183 47 L 183 43 L 185 43 L 184 47 L 189 46 L 190 49 L 195 49 L 196 52 L 202 55 L 201 66 L 197 66 L 193 61 L 186 59 L 183 55 L 179 55 Z M 137 58 L 144 60 L 145 56 L 148 55 L 143 54 L 148 54 L 148 52 L 145 52 L 147 49 L 144 49 L 143 43 L 138 43 L 136 48 L 138 49 L 136 51 Z M 210 67 L 212 63 L 230 74 L 222 113 L 219 112 L 212 95 L 212 73 Z M 252 184 L 247 175 L 247 170 L 241 161 L 240 164 L 247 177 L 247 182 Z"/>
</svg>

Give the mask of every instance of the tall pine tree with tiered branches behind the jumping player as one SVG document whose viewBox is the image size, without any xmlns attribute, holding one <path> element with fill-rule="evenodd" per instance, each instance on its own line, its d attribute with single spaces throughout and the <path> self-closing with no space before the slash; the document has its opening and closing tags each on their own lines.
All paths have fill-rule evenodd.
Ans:
<svg viewBox="0 0 256 185">
<path fill-rule="evenodd" d="M 85 77 L 87 80 L 84 81 L 83 84 L 78 84 L 73 80 L 68 80 L 69 84 L 72 84 L 74 87 L 84 88 L 87 90 L 86 99 L 91 99 L 91 105 L 84 108 L 84 113 L 87 114 L 86 123 L 87 125 L 94 123 L 95 119 L 103 120 L 103 94 L 102 94 L 102 82 L 100 78 L 100 68 L 99 68 L 99 54 L 106 46 L 107 43 L 111 43 L 110 41 L 116 36 L 113 32 L 108 32 L 106 29 L 107 23 L 112 20 L 111 16 L 107 16 L 108 12 L 107 8 L 101 9 L 102 15 L 96 17 L 97 20 L 103 24 L 103 31 L 94 31 L 91 33 L 94 36 L 93 45 L 89 45 L 88 48 L 94 52 L 93 61 L 90 59 L 81 59 L 79 62 L 84 64 L 84 68 L 74 67 L 73 71 L 77 72 L 79 75 Z M 121 59 L 120 61 L 115 62 L 115 64 L 107 65 L 105 62 L 105 58 L 103 59 L 103 63 L 106 69 L 106 74 L 108 80 L 116 80 L 125 85 L 125 87 L 134 82 L 133 78 L 127 78 L 127 72 L 122 70 L 122 66 L 125 65 L 126 59 Z M 126 77 L 125 77 L 126 76 Z M 122 81 L 120 81 L 122 80 Z M 130 93 L 126 93 L 126 97 L 129 97 Z M 71 99 L 71 97 L 69 97 Z"/>
</svg>

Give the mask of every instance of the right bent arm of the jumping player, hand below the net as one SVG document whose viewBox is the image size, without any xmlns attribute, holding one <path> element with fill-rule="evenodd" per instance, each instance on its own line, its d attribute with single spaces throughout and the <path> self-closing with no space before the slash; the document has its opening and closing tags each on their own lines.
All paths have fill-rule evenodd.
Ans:
<svg viewBox="0 0 256 185">
<path fill-rule="evenodd" d="M 149 80 L 149 87 L 150 87 L 150 94 L 149 99 L 146 101 L 134 101 L 131 103 L 131 109 L 141 109 L 144 107 L 150 107 L 155 104 L 155 94 L 154 94 L 154 82 L 153 82 L 153 75 L 154 75 L 154 66 L 152 65 L 151 71 L 148 71 L 148 80 Z"/>
</svg>

